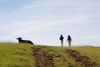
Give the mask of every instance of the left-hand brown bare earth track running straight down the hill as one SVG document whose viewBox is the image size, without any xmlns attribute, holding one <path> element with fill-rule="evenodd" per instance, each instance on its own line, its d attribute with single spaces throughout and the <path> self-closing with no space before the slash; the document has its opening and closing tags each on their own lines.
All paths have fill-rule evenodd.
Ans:
<svg viewBox="0 0 100 67">
<path fill-rule="evenodd" d="M 42 51 L 43 47 L 35 47 L 33 55 L 36 60 L 36 67 L 56 67 L 53 63 L 53 56 L 49 56 Z"/>
</svg>

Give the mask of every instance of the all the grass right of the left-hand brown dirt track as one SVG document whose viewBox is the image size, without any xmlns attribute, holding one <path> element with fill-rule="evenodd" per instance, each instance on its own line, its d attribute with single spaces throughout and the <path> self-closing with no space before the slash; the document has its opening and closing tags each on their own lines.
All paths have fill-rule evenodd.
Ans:
<svg viewBox="0 0 100 67">
<path fill-rule="evenodd" d="M 96 62 L 100 67 L 100 47 L 82 46 L 82 47 L 54 47 L 47 46 L 43 48 L 43 51 L 48 55 L 53 56 L 53 61 L 57 67 L 85 67 L 82 63 L 76 62 L 75 58 L 69 56 L 65 51 L 67 49 L 76 50 L 82 56 L 88 57 L 91 61 Z"/>
</svg>

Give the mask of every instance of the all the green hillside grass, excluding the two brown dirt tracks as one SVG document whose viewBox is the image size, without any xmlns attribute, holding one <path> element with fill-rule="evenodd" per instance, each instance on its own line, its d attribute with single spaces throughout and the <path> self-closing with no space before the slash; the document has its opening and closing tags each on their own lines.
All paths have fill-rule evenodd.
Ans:
<svg viewBox="0 0 100 67">
<path fill-rule="evenodd" d="M 36 60 L 33 56 L 35 47 L 45 47 L 42 51 L 53 56 L 56 67 L 84 67 L 66 53 L 67 49 L 76 50 L 81 55 L 89 57 L 98 64 L 97 67 L 100 67 L 100 47 L 56 47 L 16 43 L 0 43 L 0 67 L 36 67 Z"/>
</svg>

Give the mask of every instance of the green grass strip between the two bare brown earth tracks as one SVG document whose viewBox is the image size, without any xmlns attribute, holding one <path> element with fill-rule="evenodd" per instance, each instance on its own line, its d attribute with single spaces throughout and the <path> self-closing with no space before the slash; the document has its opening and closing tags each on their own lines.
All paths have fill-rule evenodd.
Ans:
<svg viewBox="0 0 100 67">
<path fill-rule="evenodd" d="M 67 53 L 65 53 L 66 49 L 68 47 L 50 47 L 44 48 L 44 51 L 48 52 L 48 55 L 53 55 L 54 58 L 54 64 L 57 67 L 81 67 L 79 62 L 75 62 L 73 58 L 68 56 Z"/>
</svg>

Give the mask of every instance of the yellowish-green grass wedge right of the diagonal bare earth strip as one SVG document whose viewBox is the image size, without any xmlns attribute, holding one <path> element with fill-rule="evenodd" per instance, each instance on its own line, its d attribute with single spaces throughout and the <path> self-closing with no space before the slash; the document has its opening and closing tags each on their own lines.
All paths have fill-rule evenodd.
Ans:
<svg viewBox="0 0 100 67">
<path fill-rule="evenodd" d="M 100 47 L 84 46 L 84 47 L 71 47 L 70 49 L 78 51 L 81 55 L 89 57 L 100 66 Z"/>
</svg>

